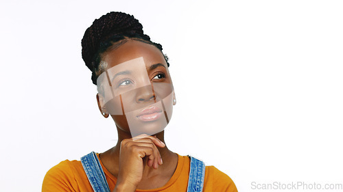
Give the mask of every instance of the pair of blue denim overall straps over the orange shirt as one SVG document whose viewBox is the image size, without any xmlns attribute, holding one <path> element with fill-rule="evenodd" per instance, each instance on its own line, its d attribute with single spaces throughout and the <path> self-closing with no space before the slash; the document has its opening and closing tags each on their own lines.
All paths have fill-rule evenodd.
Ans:
<svg viewBox="0 0 343 192">
<path fill-rule="evenodd" d="M 193 156 L 189 156 L 189 158 L 191 159 L 191 167 L 187 192 L 201 192 L 204 186 L 205 164 Z M 95 192 L 111 192 L 102 165 L 95 152 L 82 156 L 81 163 Z"/>
</svg>

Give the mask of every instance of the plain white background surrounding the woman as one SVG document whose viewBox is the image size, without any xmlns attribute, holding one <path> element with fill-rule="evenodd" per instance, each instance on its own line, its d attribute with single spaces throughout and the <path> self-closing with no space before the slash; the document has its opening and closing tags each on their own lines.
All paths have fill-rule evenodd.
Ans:
<svg viewBox="0 0 343 192">
<path fill-rule="evenodd" d="M 251 182 L 343 183 L 342 1 L 1 1 L 0 191 L 116 143 L 81 57 L 95 18 L 133 14 L 170 57 L 167 146 Z M 300 190 L 301 191 L 301 190 Z"/>
</svg>

